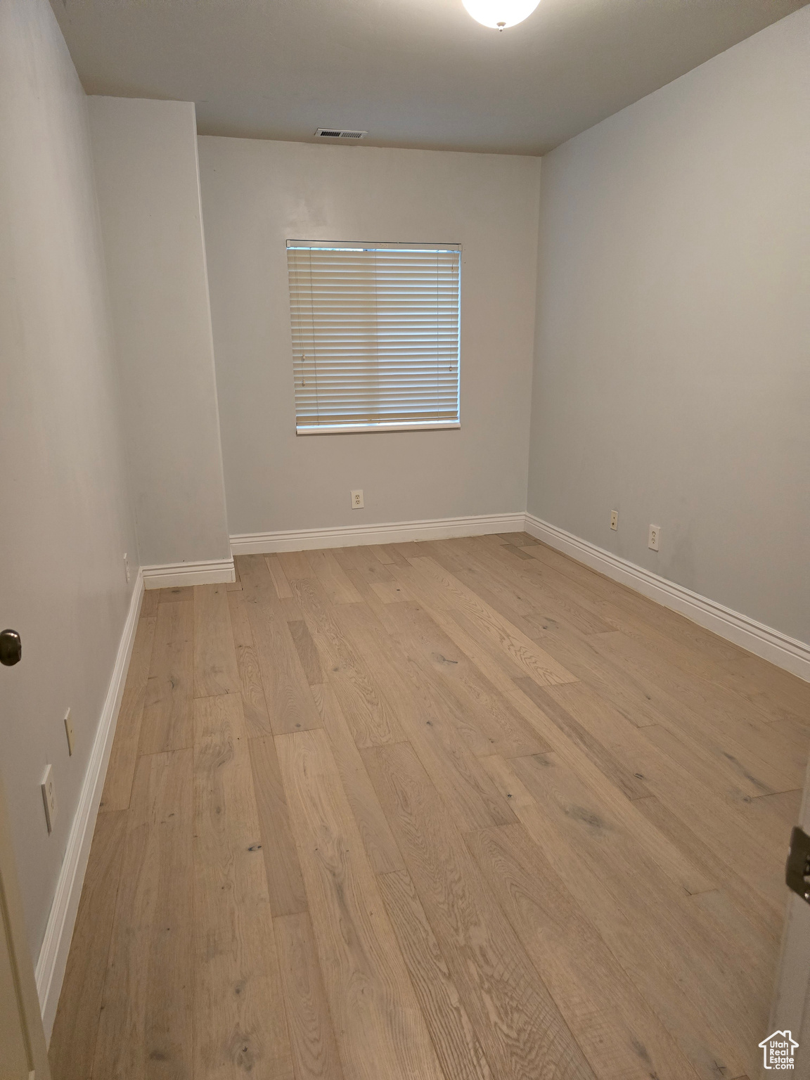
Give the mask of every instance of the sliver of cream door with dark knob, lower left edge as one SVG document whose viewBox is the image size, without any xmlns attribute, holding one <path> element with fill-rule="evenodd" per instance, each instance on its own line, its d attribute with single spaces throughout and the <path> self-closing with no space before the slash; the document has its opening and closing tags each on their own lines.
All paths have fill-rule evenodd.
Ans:
<svg viewBox="0 0 810 1080">
<path fill-rule="evenodd" d="M 13 664 L 0 638 L 0 662 Z M 17 658 L 18 659 L 18 658 Z M 0 686 L 14 678 L 0 667 Z M 0 715 L 0 725 L 2 716 Z M 0 780 L 0 1080 L 51 1080 L 33 964 L 23 919 L 17 870 Z"/>
</svg>

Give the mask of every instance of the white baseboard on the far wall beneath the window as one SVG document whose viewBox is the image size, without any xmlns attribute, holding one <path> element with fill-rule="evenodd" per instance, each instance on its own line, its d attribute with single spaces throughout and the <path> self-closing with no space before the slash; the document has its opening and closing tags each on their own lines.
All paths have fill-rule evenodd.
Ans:
<svg viewBox="0 0 810 1080">
<path fill-rule="evenodd" d="M 231 537 L 234 555 L 261 555 L 273 551 L 312 551 L 316 548 L 351 548 L 369 543 L 403 543 L 406 540 L 447 540 L 450 537 L 519 532 L 526 515 L 478 514 L 475 517 L 441 517 L 427 522 L 389 522 L 382 525 L 341 525 L 330 529 L 293 529 L 283 532 L 244 532 Z"/>
</svg>

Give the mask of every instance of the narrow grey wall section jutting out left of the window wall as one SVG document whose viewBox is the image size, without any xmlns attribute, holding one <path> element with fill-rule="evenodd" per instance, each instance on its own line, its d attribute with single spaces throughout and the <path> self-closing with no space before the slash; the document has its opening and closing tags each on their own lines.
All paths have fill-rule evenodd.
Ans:
<svg viewBox="0 0 810 1080">
<path fill-rule="evenodd" d="M 194 106 L 89 105 L 140 562 L 227 558 Z"/>
</svg>

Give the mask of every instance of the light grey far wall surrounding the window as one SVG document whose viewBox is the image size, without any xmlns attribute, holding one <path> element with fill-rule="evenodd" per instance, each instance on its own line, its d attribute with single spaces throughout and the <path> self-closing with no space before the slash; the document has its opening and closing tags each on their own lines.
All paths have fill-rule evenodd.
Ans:
<svg viewBox="0 0 810 1080">
<path fill-rule="evenodd" d="M 205 137 L 200 168 L 231 534 L 525 509 L 539 160 Z M 463 245 L 460 430 L 296 437 L 287 239 Z"/>
</svg>

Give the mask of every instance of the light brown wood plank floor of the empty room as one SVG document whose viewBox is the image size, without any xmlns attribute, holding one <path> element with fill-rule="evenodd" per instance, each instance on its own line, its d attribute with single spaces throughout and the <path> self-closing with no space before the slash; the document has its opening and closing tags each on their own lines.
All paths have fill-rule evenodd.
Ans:
<svg viewBox="0 0 810 1080">
<path fill-rule="evenodd" d="M 758 1075 L 810 686 L 526 534 L 148 593 L 54 1080 Z"/>
</svg>

